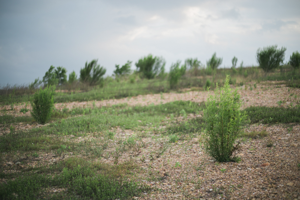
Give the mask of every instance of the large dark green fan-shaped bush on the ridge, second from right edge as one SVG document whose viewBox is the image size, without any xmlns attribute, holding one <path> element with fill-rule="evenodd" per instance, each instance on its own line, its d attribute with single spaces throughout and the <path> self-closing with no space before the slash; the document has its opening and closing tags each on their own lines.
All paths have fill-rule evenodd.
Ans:
<svg viewBox="0 0 300 200">
<path fill-rule="evenodd" d="M 277 45 L 257 49 L 256 61 L 265 72 L 273 70 L 283 63 L 286 48 L 277 49 Z"/>
</svg>

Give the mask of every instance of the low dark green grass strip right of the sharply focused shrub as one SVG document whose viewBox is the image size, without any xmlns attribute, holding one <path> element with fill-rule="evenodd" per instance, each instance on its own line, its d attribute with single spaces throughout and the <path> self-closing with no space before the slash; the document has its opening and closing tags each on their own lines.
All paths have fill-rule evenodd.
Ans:
<svg viewBox="0 0 300 200">
<path fill-rule="evenodd" d="M 274 124 L 300 122 L 300 107 L 249 107 L 244 109 L 252 123 Z"/>
</svg>

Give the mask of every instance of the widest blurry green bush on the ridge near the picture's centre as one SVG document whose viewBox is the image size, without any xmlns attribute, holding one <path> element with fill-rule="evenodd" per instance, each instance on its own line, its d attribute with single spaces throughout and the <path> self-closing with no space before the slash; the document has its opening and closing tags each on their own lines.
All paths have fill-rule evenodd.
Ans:
<svg viewBox="0 0 300 200">
<path fill-rule="evenodd" d="M 149 54 L 147 57 L 141 58 L 135 65 L 137 71 L 142 73 L 142 77 L 153 79 L 161 71 L 164 71 L 166 61 L 162 57 L 157 57 Z"/>
</svg>

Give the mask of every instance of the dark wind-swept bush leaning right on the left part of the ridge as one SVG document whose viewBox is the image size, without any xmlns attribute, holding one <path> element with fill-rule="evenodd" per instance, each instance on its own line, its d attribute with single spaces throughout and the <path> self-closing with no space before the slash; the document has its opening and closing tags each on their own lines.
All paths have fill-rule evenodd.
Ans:
<svg viewBox="0 0 300 200">
<path fill-rule="evenodd" d="M 85 67 L 80 69 L 80 81 L 87 82 L 90 85 L 96 85 L 103 81 L 102 76 L 106 69 L 97 65 L 98 60 L 92 60 L 90 63 L 85 62 Z"/>
</svg>

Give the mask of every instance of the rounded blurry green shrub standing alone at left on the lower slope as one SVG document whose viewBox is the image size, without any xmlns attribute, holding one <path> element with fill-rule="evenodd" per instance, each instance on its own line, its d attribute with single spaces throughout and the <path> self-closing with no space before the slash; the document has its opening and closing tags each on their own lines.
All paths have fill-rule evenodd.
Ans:
<svg viewBox="0 0 300 200">
<path fill-rule="evenodd" d="M 31 115 L 40 124 L 45 124 L 51 117 L 54 106 L 54 91 L 55 86 L 46 87 L 44 90 L 40 88 L 30 101 L 32 107 Z"/>
</svg>

